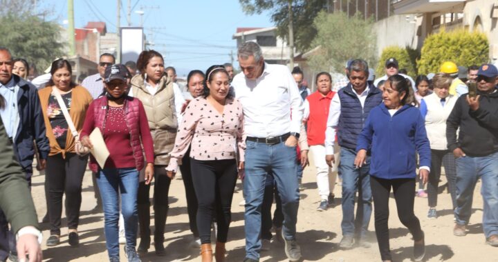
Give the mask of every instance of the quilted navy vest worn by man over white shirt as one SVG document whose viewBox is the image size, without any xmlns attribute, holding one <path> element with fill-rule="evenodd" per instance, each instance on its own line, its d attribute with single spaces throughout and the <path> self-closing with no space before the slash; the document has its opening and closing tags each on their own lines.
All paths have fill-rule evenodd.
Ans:
<svg viewBox="0 0 498 262">
<path fill-rule="evenodd" d="M 338 95 L 341 103 L 338 143 L 343 148 L 356 150 L 358 134 L 362 131 L 370 110 L 382 103 L 382 92 L 369 84 L 369 92 L 363 108 L 351 83 L 339 90 Z"/>
</svg>

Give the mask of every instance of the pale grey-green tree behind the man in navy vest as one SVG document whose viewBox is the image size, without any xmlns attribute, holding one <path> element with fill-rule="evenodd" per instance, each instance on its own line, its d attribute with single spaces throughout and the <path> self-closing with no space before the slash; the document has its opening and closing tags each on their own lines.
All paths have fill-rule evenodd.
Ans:
<svg viewBox="0 0 498 262">
<path fill-rule="evenodd" d="M 342 72 L 349 59 L 376 63 L 376 34 L 371 19 L 361 14 L 347 17 L 344 12 L 320 12 L 313 22 L 317 35 L 311 46 L 309 64 L 313 70 Z"/>
</svg>

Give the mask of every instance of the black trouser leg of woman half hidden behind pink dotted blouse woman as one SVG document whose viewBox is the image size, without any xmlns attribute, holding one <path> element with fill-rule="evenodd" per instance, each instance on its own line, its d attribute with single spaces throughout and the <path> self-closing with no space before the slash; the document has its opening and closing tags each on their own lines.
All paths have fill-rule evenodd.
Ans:
<svg viewBox="0 0 498 262">
<path fill-rule="evenodd" d="M 182 159 L 180 171 L 182 173 L 183 185 L 185 185 L 185 196 L 187 197 L 187 212 L 189 214 L 190 231 L 192 231 L 192 234 L 194 234 L 195 237 L 199 237 L 199 230 L 197 230 L 196 223 L 197 208 L 199 204 L 197 203 L 194 182 L 192 181 L 192 170 L 190 169 L 190 148 L 187 153 L 185 153 L 185 156 Z"/>
</svg>

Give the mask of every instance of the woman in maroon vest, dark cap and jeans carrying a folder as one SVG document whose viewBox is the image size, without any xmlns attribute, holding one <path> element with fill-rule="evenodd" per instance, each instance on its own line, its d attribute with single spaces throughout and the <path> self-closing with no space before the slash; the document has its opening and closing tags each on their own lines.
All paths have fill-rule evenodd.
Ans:
<svg viewBox="0 0 498 262">
<path fill-rule="evenodd" d="M 109 66 L 104 74 L 107 93 L 93 101 L 81 132 L 82 144 L 93 148 L 89 134 L 99 128 L 109 150 L 109 158 L 100 166 L 93 157 L 90 168 L 97 172 L 97 183 L 104 207 L 104 232 L 110 261 L 119 261 L 119 200 L 124 218 L 128 261 L 138 262 L 138 173 L 145 165 L 145 183 L 154 176 L 154 145 L 147 116 L 140 100 L 126 94 L 129 72 L 122 64 Z M 145 159 L 143 155 L 145 154 Z M 145 164 L 145 162 L 147 162 Z"/>
</svg>

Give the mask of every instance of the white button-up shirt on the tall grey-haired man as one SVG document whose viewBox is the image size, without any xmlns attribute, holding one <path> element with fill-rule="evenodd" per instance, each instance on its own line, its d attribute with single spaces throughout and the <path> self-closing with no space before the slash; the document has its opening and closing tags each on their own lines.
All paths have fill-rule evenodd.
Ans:
<svg viewBox="0 0 498 262">
<path fill-rule="evenodd" d="M 241 72 L 234 77 L 232 86 L 236 98 L 242 103 L 248 137 L 299 133 L 303 117 L 302 99 L 286 66 L 264 63 L 260 77 L 246 79 Z"/>
</svg>

